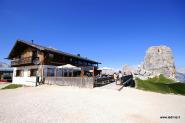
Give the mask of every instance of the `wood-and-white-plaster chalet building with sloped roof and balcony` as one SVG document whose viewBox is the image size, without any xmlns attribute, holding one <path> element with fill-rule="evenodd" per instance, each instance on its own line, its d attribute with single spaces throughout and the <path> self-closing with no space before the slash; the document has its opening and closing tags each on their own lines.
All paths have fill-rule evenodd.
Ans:
<svg viewBox="0 0 185 123">
<path fill-rule="evenodd" d="M 36 76 L 39 76 L 39 81 L 44 82 L 45 77 L 54 77 L 55 68 L 66 64 L 74 65 L 79 68 L 90 68 L 94 74 L 97 73 L 97 61 L 73 55 L 53 48 L 44 47 L 33 42 L 17 40 L 11 50 L 8 59 L 11 60 L 13 67 L 13 83 L 35 85 Z M 83 73 L 85 73 L 83 71 Z M 70 74 L 63 76 L 70 77 Z M 82 76 L 76 72 L 74 77 Z"/>
</svg>

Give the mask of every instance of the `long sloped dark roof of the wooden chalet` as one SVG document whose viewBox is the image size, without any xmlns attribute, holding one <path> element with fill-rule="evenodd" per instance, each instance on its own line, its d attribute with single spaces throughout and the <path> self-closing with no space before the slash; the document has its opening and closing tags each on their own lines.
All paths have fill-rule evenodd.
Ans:
<svg viewBox="0 0 185 123">
<path fill-rule="evenodd" d="M 11 59 L 11 54 L 14 52 L 14 49 L 17 46 L 18 43 L 22 43 L 22 44 L 31 46 L 33 48 L 36 48 L 36 49 L 39 49 L 39 50 L 42 50 L 42 51 L 54 52 L 54 53 L 70 56 L 70 57 L 73 57 L 73 58 L 89 61 L 89 62 L 92 62 L 92 63 L 101 64 L 100 62 L 97 62 L 97 61 L 94 61 L 94 60 L 91 60 L 91 59 L 88 59 L 88 58 L 84 58 L 84 57 L 81 57 L 81 56 L 77 56 L 77 55 L 74 55 L 74 54 L 63 52 L 63 51 L 60 51 L 60 50 L 57 50 L 57 49 L 54 49 L 54 48 L 48 48 L 48 47 L 41 46 L 41 45 L 38 45 L 38 44 L 35 44 L 35 43 L 32 43 L 32 42 L 28 42 L 28 41 L 24 41 L 24 40 L 17 40 L 16 41 L 14 47 L 12 48 L 12 50 L 11 50 L 9 56 L 8 56 L 9 59 Z"/>
</svg>

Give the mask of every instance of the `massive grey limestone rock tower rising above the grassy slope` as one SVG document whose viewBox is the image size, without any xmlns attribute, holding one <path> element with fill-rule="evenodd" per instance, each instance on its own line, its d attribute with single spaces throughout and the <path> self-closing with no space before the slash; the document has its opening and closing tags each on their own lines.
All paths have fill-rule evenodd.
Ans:
<svg viewBox="0 0 185 123">
<path fill-rule="evenodd" d="M 147 52 L 143 63 L 143 69 L 153 75 L 163 74 L 175 79 L 176 68 L 172 50 L 167 46 L 152 46 Z"/>
</svg>

